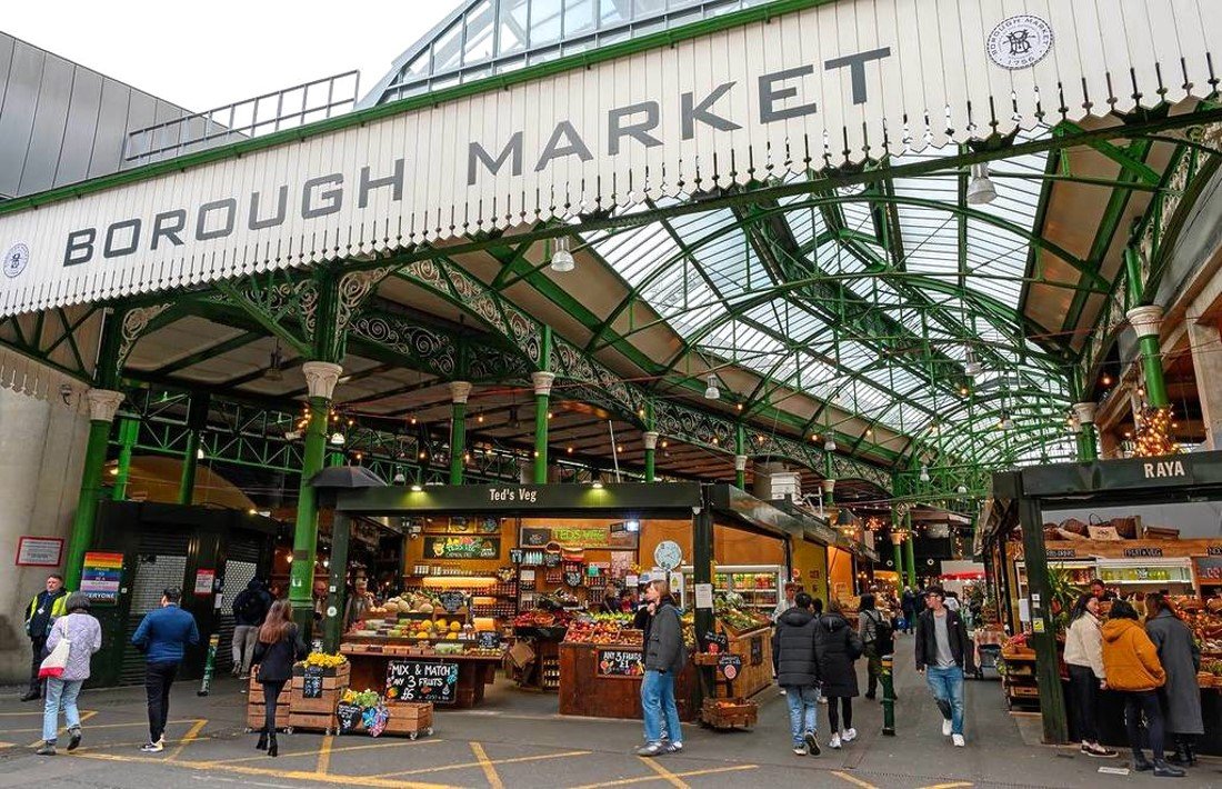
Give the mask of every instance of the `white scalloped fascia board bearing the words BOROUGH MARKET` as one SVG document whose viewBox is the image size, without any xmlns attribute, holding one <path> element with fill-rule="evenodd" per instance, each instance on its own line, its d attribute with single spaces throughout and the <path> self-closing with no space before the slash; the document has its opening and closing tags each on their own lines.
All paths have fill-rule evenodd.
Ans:
<svg viewBox="0 0 1222 789">
<path fill-rule="evenodd" d="M 0 316 L 609 210 L 1213 91 L 1216 0 L 809 2 L 0 208 Z M 1124 78 L 1117 77 L 1123 75 Z M 518 81 L 521 80 L 521 81 Z M 463 86 L 464 89 L 469 86 Z M 71 199 L 68 199 L 71 197 Z"/>
</svg>

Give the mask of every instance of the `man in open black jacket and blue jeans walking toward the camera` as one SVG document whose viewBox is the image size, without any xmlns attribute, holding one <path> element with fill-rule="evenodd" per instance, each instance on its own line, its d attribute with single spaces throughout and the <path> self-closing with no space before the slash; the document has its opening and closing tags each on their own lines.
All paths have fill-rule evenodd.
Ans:
<svg viewBox="0 0 1222 789">
<path fill-rule="evenodd" d="M 968 654 L 968 629 L 963 618 L 945 604 L 941 587 L 925 591 L 925 610 L 916 617 L 916 670 L 925 675 L 937 708 L 942 711 L 942 735 L 956 747 L 963 736 L 963 661 Z"/>
</svg>

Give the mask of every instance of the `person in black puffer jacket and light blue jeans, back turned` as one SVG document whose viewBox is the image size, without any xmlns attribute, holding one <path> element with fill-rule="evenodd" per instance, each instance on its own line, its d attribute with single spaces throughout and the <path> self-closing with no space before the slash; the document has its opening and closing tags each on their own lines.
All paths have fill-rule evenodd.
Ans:
<svg viewBox="0 0 1222 789">
<path fill-rule="evenodd" d="M 810 595 L 798 592 L 793 608 L 776 620 L 772 631 L 772 670 L 789 706 L 793 752 L 819 756 L 819 664 L 815 661 L 815 626 Z"/>
</svg>

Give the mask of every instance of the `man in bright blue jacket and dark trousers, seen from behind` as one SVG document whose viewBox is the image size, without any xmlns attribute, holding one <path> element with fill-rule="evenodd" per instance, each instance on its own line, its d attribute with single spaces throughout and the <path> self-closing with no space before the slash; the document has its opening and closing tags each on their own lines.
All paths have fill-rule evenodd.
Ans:
<svg viewBox="0 0 1222 789">
<path fill-rule="evenodd" d="M 178 608 L 182 590 L 171 586 L 161 595 L 161 608 L 144 615 L 132 636 L 132 643 L 144 653 L 144 692 L 149 705 L 149 741 L 145 754 L 165 747 L 165 723 L 170 719 L 170 686 L 182 663 L 187 645 L 199 643 L 196 618 Z"/>
</svg>

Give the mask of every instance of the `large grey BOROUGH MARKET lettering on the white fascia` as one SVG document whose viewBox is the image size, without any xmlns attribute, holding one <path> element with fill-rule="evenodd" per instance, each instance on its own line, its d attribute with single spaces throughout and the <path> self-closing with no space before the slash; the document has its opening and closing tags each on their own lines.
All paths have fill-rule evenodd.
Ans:
<svg viewBox="0 0 1222 789">
<path fill-rule="evenodd" d="M 890 46 L 826 60 L 822 70 L 847 69 L 853 104 L 865 104 L 869 100 L 866 67 L 886 57 L 891 57 Z M 807 102 L 799 89 L 799 81 L 814 73 L 815 65 L 807 64 L 759 76 L 755 106 L 759 122 L 766 125 L 818 113 L 815 102 Z M 695 138 L 698 126 L 721 132 L 742 128 L 742 124 L 728 117 L 726 110 L 721 109 L 728 104 L 727 97 L 741 91 L 743 88 L 738 82 L 731 81 L 699 95 L 694 92 L 682 93 L 678 97 L 682 139 Z M 601 153 L 616 157 L 629 144 L 644 148 L 664 146 L 664 141 L 659 138 L 661 115 L 661 103 L 657 100 L 607 110 L 606 150 Z M 595 136 L 599 136 L 598 130 L 578 130 L 572 121 L 558 121 L 536 158 L 532 152 L 534 170 L 541 171 L 554 161 L 568 157 L 577 157 L 582 161 L 591 160 L 595 154 L 587 143 L 587 137 Z M 470 141 L 467 146 L 467 186 L 474 186 L 481 172 L 495 176 L 506 165 L 512 175 L 522 175 L 527 157 L 522 130 L 514 131 L 500 148 L 499 143 L 485 146 L 485 142 L 488 141 Z M 495 155 L 489 147 L 496 152 Z M 156 252 L 159 248 L 185 246 L 188 241 L 225 239 L 240 225 L 252 231 L 279 228 L 288 220 L 291 213 L 302 219 L 318 219 L 341 212 L 345 201 L 353 197 L 358 208 L 365 208 L 375 190 L 389 190 L 393 202 L 403 199 L 407 179 L 404 158 L 395 159 L 386 170 L 375 171 L 365 165 L 356 179 L 351 175 L 329 172 L 309 177 L 299 186 L 284 183 L 271 191 L 253 191 L 244 202 L 240 202 L 238 197 L 224 197 L 191 208 L 167 208 L 152 219 L 133 217 L 105 228 L 81 228 L 67 235 L 62 265 L 82 265 L 99 256 L 103 259 L 123 258 L 141 250 Z"/>
</svg>

